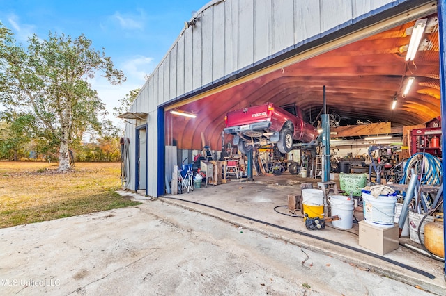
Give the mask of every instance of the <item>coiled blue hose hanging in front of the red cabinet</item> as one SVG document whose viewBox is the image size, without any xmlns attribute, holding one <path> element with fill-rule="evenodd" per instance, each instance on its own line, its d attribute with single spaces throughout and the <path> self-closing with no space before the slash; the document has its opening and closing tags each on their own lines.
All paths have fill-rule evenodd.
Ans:
<svg viewBox="0 0 446 296">
<path fill-rule="evenodd" d="M 421 183 L 424 185 L 439 186 L 443 178 L 443 166 L 440 159 L 429 153 L 418 152 L 411 156 L 404 169 L 404 175 L 401 179 L 401 184 L 406 184 L 410 180 L 410 170 L 415 169 L 415 173 L 420 173 L 423 170 Z"/>
</svg>

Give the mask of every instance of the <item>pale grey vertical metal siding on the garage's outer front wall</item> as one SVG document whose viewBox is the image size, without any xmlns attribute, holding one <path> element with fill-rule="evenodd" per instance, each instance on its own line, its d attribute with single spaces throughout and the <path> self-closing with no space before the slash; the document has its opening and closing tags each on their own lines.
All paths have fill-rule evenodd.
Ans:
<svg viewBox="0 0 446 296">
<path fill-rule="evenodd" d="M 157 106 L 404 0 L 211 1 L 151 74 L 133 111 L 149 114 L 148 194 L 157 195 Z M 178 20 L 180 22 L 180 20 Z M 134 154 L 134 126 L 125 129 Z M 132 165 L 134 166 L 134 155 Z M 134 167 L 131 169 L 134 172 Z M 164 176 L 159 176 L 164 179 Z M 132 178 L 134 188 L 134 176 Z"/>
</svg>

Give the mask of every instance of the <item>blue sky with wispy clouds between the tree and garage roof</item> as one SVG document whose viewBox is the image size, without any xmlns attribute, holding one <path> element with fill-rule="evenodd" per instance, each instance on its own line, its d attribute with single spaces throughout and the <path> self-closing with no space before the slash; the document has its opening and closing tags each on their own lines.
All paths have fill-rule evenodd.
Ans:
<svg viewBox="0 0 446 296">
<path fill-rule="evenodd" d="M 118 99 L 141 88 L 174 43 L 192 11 L 210 0 L 0 0 L 0 21 L 15 39 L 26 44 L 36 33 L 45 39 L 49 31 L 72 38 L 84 34 L 95 49 L 105 48 L 127 81 L 112 86 L 99 76 L 91 81 L 107 110 L 112 113 Z M 116 124 L 120 120 L 114 120 Z"/>
</svg>

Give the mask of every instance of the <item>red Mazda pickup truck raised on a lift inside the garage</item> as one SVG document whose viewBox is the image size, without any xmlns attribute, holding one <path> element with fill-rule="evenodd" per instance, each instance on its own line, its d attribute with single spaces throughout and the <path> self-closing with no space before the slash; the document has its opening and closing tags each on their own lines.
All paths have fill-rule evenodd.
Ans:
<svg viewBox="0 0 446 296">
<path fill-rule="evenodd" d="M 293 149 L 293 142 L 309 143 L 318 137 L 317 129 L 305 122 L 302 110 L 295 104 L 279 107 L 266 103 L 243 108 L 227 113 L 224 120 L 224 132 L 234 135 L 233 143 L 243 154 L 254 145 L 270 143 L 277 143 L 277 149 L 286 154 Z"/>
</svg>

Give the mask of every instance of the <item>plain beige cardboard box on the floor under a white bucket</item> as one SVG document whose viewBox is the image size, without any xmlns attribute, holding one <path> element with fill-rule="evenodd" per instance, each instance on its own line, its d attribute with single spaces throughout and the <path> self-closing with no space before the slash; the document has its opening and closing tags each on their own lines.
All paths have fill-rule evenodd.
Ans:
<svg viewBox="0 0 446 296">
<path fill-rule="evenodd" d="M 384 255 L 399 247 L 398 224 L 384 228 L 360 221 L 360 246 Z"/>
</svg>

